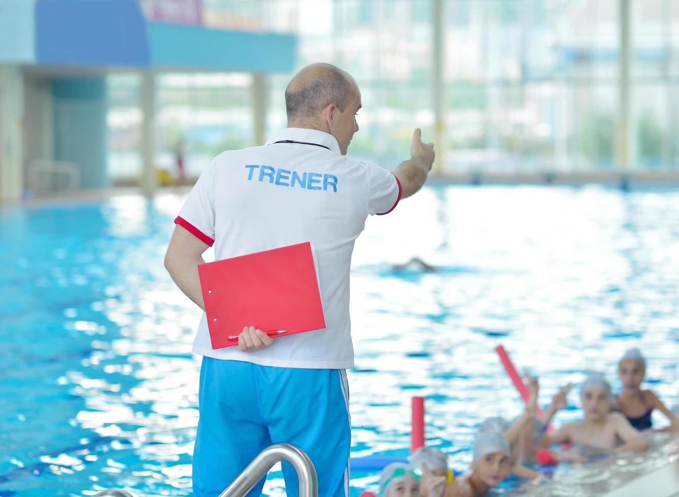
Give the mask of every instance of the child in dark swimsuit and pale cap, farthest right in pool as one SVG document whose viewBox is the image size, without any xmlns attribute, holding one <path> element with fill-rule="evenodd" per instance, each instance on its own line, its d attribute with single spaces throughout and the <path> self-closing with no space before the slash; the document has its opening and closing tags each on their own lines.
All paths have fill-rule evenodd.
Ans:
<svg viewBox="0 0 679 497">
<path fill-rule="evenodd" d="M 640 388 L 646 374 L 646 359 L 638 348 L 631 348 L 625 352 L 618 363 L 618 377 L 623 384 L 623 390 L 617 395 L 614 407 L 621 411 L 629 424 L 637 430 L 653 428 L 650 415 L 653 409 L 661 411 L 670 426 L 666 430 L 679 430 L 679 418 L 667 409 L 655 393 Z"/>
</svg>

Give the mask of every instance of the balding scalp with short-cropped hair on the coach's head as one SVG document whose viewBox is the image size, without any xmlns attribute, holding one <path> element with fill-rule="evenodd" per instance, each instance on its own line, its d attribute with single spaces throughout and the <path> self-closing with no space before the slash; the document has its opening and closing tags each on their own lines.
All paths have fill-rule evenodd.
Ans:
<svg viewBox="0 0 679 497">
<path fill-rule="evenodd" d="M 285 89 L 288 122 L 314 120 L 330 104 L 344 112 L 358 91 L 354 78 L 339 67 L 322 62 L 308 65 Z"/>
</svg>

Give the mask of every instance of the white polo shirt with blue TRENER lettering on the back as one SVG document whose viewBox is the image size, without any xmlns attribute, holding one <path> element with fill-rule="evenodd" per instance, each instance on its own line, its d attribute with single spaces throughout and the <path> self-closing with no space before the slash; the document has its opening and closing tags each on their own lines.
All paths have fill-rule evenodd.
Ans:
<svg viewBox="0 0 679 497">
<path fill-rule="evenodd" d="M 175 223 L 215 244 L 215 260 L 311 242 L 326 328 L 278 337 L 254 352 L 213 350 L 203 313 L 194 352 L 265 366 L 354 365 L 349 268 L 367 215 L 391 212 L 401 184 L 388 170 L 346 158 L 318 130 L 286 128 L 261 147 L 226 151 L 202 172 Z M 257 323 L 243 323 L 243 326 Z"/>
</svg>

